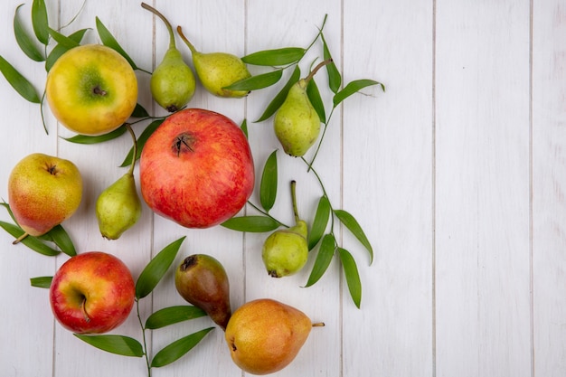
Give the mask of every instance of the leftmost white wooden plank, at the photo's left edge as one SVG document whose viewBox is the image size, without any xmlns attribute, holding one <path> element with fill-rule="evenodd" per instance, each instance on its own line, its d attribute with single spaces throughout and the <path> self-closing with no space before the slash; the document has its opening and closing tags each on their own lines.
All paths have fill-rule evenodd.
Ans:
<svg viewBox="0 0 566 377">
<path fill-rule="evenodd" d="M 3 7 L 3 20 L 0 33 L 5 36 L 0 55 L 20 71 L 41 95 L 45 71 L 41 63 L 31 61 L 20 50 L 14 39 L 13 19 L 17 3 L 6 2 Z M 31 27 L 30 5 L 19 10 L 25 27 Z M 57 7 L 50 5 L 49 11 L 55 14 Z M 14 165 L 31 153 L 57 155 L 56 124 L 47 117 L 49 135 L 42 126 L 40 108 L 27 102 L 0 76 L 0 111 L 2 112 L 2 137 L 0 151 L 0 198 L 9 202 L 8 177 Z M 8 212 L 0 211 L 0 220 L 13 223 Z M 0 344 L 1 375 L 44 375 L 52 371 L 53 319 L 49 305 L 48 292 L 30 286 L 30 278 L 51 276 L 56 260 L 42 256 L 23 244 L 12 245 L 14 240 L 4 230 L 0 231 L 0 298 L 5 303 L 0 309 L 4 339 Z M 44 315 L 47 314 L 47 315 Z M 33 363 L 30 363 L 33 360 Z"/>
</svg>

